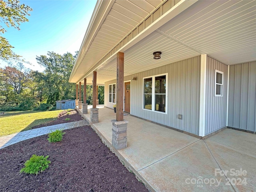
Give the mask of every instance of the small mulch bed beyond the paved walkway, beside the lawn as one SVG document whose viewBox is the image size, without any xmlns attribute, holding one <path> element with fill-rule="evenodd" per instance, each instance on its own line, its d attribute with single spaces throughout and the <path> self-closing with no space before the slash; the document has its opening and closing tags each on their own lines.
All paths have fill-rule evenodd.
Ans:
<svg viewBox="0 0 256 192">
<path fill-rule="evenodd" d="M 70 120 L 65 120 L 66 118 L 70 118 Z M 61 123 L 80 121 L 83 119 L 84 118 L 82 118 L 82 116 L 75 109 L 73 109 L 69 112 L 67 110 L 65 110 L 65 111 L 60 112 L 60 114 L 58 115 L 58 118 L 56 120 L 52 120 L 50 122 L 46 122 L 44 124 L 34 126 L 31 129 L 36 129 L 36 128 L 50 126 L 50 125 L 56 125 L 56 124 L 61 124 Z"/>
</svg>

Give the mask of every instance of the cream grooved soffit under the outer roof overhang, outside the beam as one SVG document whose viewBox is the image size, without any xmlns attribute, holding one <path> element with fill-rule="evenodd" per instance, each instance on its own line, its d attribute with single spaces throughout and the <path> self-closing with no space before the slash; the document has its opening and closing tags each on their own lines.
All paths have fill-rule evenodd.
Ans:
<svg viewBox="0 0 256 192">
<path fill-rule="evenodd" d="M 72 82 L 77 82 L 126 34 L 150 14 L 163 0 L 116 0 L 78 66 Z"/>
</svg>

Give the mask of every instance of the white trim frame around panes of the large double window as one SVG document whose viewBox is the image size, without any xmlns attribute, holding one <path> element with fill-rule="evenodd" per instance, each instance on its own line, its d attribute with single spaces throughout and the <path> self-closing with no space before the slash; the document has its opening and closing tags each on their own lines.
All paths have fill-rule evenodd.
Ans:
<svg viewBox="0 0 256 192">
<path fill-rule="evenodd" d="M 165 112 L 161 112 L 161 111 L 155 110 L 155 77 L 164 76 L 164 75 L 166 76 L 166 91 L 165 91 L 166 106 L 165 106 Z M 147 78 L 152 78 L 152 110 L 144 109 L 144 79 L 147 79 Z M 142 110 L 151 111 L 151 112 L 160 113 L 160 114 L 167 114 L 167 111 L 168 111 L 168 73 L 144 77 L 142 80 L 142 86 L 143 86 L 143 88 L 142 88 Z"/>
</svg>

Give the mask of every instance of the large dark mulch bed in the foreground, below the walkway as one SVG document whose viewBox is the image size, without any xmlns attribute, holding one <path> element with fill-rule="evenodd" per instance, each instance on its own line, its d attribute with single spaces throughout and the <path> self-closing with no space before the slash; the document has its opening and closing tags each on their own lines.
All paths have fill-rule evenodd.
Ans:
<svg viewBox="0 0 256 192">
<path fill-rule="evenodd" d="M 47 135 L 0 150 L 0 191 L 8 192 L 146 192 L 90 126 L 65 130 L 63 140 Z M 49 155 L 48 169 L 38 175 L 20 173 L 32 154 Z"/>
</svg>

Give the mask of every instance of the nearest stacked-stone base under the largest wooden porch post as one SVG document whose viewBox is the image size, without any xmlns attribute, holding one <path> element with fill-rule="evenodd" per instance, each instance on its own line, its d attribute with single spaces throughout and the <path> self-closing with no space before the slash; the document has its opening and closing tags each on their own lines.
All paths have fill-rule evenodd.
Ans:
<svg viewBox="0 0 256 192">
<path fill-rule="evenodd" d="M 112 122 L 112 145 L 115 149 L 123 149 L 127 147 L 127 124 L 128 121 L 116 121 Z"/>
</svg>

